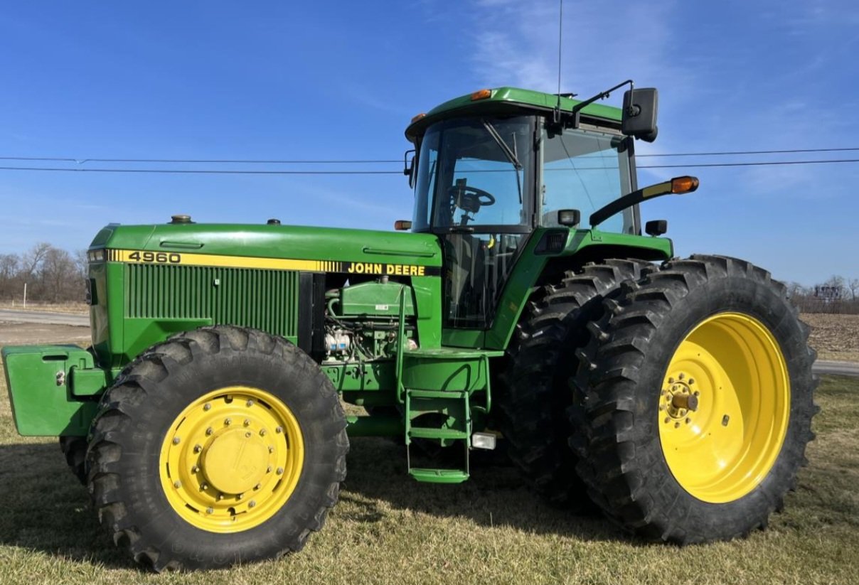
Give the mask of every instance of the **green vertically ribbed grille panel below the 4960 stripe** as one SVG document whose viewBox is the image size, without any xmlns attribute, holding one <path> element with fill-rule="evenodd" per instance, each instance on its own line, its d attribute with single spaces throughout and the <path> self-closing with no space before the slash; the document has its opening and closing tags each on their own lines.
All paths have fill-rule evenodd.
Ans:
<svg viewBox="0 0 859 585">
<path fill-rule="evenodd" d="M 128 264 L 125 282 L 125 316 L 131 319 L 210 319 L 297 335 L 296 271 Z"/>
</svg>

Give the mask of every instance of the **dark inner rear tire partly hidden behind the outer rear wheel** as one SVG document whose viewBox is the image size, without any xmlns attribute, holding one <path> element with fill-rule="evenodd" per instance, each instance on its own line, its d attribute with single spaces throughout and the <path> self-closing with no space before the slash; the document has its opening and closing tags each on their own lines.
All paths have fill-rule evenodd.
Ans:
<svg viewBox="0 0 859 585">
<path fill-rule="evenodd" d="M 570 376 L 576 351 L 588 343 L 589 322 L 602 316 L 602 299 L 624 280 L 650 266 L 636 260 L 606 260 L 568 272 L 527 304 L 509 350 L 509 368 L 497 398 L 498 424 L 510 459 L 535 490 L 559 507 L 587 509 L 585 487 L 576 476 L 576 455 L 566 409 L 573 404 Z"/>
</svg>

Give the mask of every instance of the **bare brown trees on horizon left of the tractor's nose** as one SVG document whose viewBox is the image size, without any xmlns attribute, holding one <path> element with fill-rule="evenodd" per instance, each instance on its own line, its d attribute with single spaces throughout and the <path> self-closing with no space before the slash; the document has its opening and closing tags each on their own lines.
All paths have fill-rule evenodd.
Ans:
<svg viewBox="0 0 859 585">
<path fill-rule="evenodd" d="M 87 253 L 41 242 L 21 254 L 0 254 L 0 302 L 84 302 Z"/>
</svg>

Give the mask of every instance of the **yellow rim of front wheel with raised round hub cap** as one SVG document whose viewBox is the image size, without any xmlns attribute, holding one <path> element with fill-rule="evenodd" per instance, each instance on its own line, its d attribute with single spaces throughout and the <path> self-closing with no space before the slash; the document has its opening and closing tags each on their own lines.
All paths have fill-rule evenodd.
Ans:
<svg viewBox="0 0 859 585">
<path fill-rule="evenodd" d="M 235 533 L 259 526 L 289 500 L 304 463 L 292 411 L 257 388 L 224 387 L 194 400 L 164 437 L 161 487 L 195 527 Z"/>
</svg>

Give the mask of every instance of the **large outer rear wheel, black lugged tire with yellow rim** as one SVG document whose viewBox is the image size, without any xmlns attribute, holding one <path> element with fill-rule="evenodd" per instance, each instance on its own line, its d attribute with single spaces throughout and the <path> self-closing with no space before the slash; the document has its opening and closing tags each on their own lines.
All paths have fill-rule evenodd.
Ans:
<svg viewBox="0 0 859 585">
<path fill-rule="evenodd" d="M 605 305 L 571 411 L 594 502 L 679 544 L 765 527 L 805 464 L 816 411 L 808 328 L 783 285 L 742 260 L 692 256 Z"/>
</svg>

